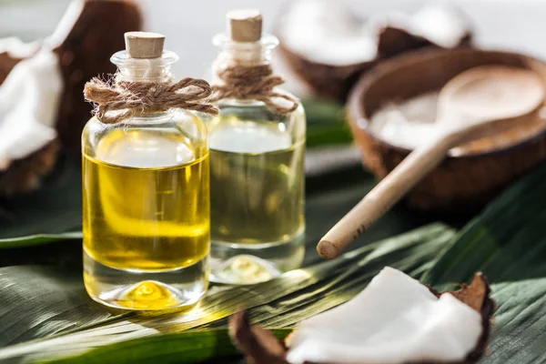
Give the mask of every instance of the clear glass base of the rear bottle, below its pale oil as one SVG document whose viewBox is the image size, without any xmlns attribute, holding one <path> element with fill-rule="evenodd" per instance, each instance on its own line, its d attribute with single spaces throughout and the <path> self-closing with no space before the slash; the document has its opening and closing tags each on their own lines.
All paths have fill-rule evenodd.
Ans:
<svg viewBox="0 0 546 364">
<path fill-rule="evenodd" d="M 265 282 L 297 269 L 305 255 L 305 232 L 288 242 L 240 244 L 212 240 L 210 281 L 231 285 Z"/>
</svg>

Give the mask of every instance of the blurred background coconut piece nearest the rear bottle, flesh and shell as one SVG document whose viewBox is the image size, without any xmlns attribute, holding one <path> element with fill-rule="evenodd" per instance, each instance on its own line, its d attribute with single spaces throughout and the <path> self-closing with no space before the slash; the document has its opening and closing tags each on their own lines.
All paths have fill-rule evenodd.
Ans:
<svg viewBox="0 0 546 364">
<path fill-rule="evenodd" d="M 319 96 L 343 99 L 377 58 L 375 35 L 340 2 L 291 2 L 276 24 L 279 50 Z"/>
</svg>

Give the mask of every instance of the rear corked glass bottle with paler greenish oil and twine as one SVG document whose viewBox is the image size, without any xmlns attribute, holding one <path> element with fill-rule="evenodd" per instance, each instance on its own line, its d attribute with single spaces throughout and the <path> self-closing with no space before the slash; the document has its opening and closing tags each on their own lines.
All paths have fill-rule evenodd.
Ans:
<svg viewBox="0 0 546 364">
<path fill-rule="evenodd" d="M 229 67 L 270 66 L 278 39 L 262 37 L 261 25 L 258 11 L 227 13 L 227 35 L 214 38 L 220 48 L 212 67 L 217 85 L 219 73 Z M 228 96 L 217 101 L 220 114 L 207 123 L 213 281 L 253 284 L 301 265 L 306 119 L 291 97 L 295 109 L 279 113 L 264 100 Z"/>
</svg>

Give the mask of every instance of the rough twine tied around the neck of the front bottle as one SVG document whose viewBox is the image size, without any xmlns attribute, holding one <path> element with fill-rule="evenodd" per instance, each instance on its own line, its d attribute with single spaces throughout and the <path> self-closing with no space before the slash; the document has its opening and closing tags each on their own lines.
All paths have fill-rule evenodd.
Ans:
<svg viewBox="0 0 546 364">
<path fill-rule="evenodd" d="M 169 108 L 194 110 L 217 115 L 208 104 L 212 93 L 207 81 L 183 78 L 178 82 L 111 82 L 93 78 L 86 83 L 84 96 L 95 104 L 95 115 L 104 124 L 116 124 L 129 117 L 167 111 Z"/>
</svg>

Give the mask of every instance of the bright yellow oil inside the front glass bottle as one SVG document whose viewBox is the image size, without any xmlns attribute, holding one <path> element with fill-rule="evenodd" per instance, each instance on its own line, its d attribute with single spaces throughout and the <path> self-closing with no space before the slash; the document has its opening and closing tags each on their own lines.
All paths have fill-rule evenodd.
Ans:
<svg viewBox="0 0 546 364">
<path fill-rule="evenodd" d="M 146 145 L 165 156 L 155 153 L 157 160 L 145 163 L 138 151 Z M 205 258 L 208 155 L 193 154 L 181 136 L 164 132 L 115 130 L 103 137 L 96 157 L 83 162 L 84 208 L 95 211 L 84 216 L 86 254 L 108 267 L 142 271 L 184 268 Z M 171 156 L 177 164 L 169 166 Z"/>
</svg>

